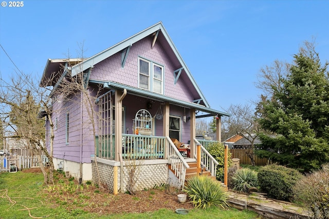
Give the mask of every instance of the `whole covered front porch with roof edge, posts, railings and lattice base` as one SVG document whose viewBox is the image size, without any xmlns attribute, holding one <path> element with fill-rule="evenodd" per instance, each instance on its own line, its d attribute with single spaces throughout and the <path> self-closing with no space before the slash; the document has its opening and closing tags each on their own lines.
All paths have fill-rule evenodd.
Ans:
<svg viewBox="0 0 329 219">
<path fill-rule="evenodd" d="M 216 175 L 218 163 L 204 146 L 220 141 L 221 116 L 228 114 L 197 103 L 182 102 L 147 91 L 144 95 L 136 94 L 132 90 L 127 91 L 126 86 L 124 88 L 123 85 L 120 86 L 121 89 L 111 90 L 98 98 L 100 118 L 96 136 L 97 150 L 92 157 L 93 179 L 96 177 L 95 162 L 98 163 L 104 183 L 113 193 L 125 191 L 127 186 L 125 175 L 131 163 L 138 164 L 141 168 L 139 189 L 161 184 L 172 184 L 181 188 L 185 183 L 186 170 L 190 168 L 189 162 L 196 162 L 198 171 L 203 167 L 211 172 L 212 176 Z M 136 101 L 135 104 L 132 103 L 132 99 Z M 152 106 L 148 105 L 148 109 L 138 106 L 144 99 L 150 101 L 155 108 L 152 109 Z M 161 116 L 158 109 L 161 110 Z M 136 112 L 140 110 L 150 114 L 147 113 L 148 115 L 142 118 L 147 121 L 142 126 L 138 125 L 136 117 Z M 197 115 L 196 111 L 205 113 Z M 218 116 L 217 139 L 197 140 L 196 118 L 214 115 Z M 173 116 L 179 118 L 178 135 L 171 127 L 170 117 Z M 185 143 L 184 149 L 174 144 L 173 139 L 176 136 L 180 142 Z M 181 153 L 182 151 L 186 153 Z"/>
</svg>

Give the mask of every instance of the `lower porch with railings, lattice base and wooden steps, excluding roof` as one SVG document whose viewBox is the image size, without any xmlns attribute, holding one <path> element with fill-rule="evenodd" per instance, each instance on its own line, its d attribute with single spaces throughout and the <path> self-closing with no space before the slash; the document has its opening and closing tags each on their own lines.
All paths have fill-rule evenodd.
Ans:
<svg viewBox="0 0 329 219">
<path fill-rule="evenodd" d="M 138 166 L 138 190 L 163 184 L 182 188 L 186 177 L 193 174 L 209 174 L 213 178 L 216 176 L 218 163 L 200 144 L 202 142 L 207 147 L 216 141 L 194 138 L 190 147 L 194 148 L 191 151 L 195 153 L 188 157 L 187 153 L 182 155 L 169 136 L 122 134 L 118 152 L 120 161 L 115 161 L 115 136 L 97 137 L 97 141 L 99 139 L 103 144 L 98 144 L 96 157 L 92 157 L 93 181 L 95 182 L 97 177 L 96 160 L 102 183 L 115 194 L 118 191 L 126 191 L 129 182 L 127 177 L 132 166 Z"/>
</svg>

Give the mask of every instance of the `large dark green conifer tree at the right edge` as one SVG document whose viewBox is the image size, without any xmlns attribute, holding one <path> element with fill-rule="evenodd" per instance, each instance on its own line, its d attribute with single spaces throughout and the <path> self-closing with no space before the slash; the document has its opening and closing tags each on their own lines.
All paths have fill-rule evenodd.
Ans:
<svg viewBox="0 0 329 219">
<path fill-rule="evenodd" d="M 329 162 L 329 78 L 314 44 L 305 43 L 294 55 L 282 86 L 258 105 L 263 146 L 258 155 L 301 171 L 319 169 Z M 272 135 L 270 135 L 271 133 Z"/>
</svg>

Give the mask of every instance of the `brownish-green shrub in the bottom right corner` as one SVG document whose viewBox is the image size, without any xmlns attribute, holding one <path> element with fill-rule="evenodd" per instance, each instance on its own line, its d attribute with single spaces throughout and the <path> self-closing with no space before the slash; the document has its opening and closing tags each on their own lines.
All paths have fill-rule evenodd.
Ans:
<svg viewBox="0 0 329 219">
<path fill-rule="evenodd" d="M 313 218 L 329 218 L 329 164 L 307 174 L 293 188 L 295 201 L 302 202 Z"/>
</svg>

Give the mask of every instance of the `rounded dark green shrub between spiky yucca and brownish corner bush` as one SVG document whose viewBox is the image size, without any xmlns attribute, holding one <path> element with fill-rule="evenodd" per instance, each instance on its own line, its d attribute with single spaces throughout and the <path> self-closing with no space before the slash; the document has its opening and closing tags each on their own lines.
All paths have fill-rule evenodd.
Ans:
<svg viewBox="0 0 329 219">
<path fill-rule="evenodd" d="M 293 197 L 293 187 L 302 174 L 295 169 L 279 165 L 267 165 L 258 172 L 258 185 L 268 197 L 289 201 Z"/>
</svg>

